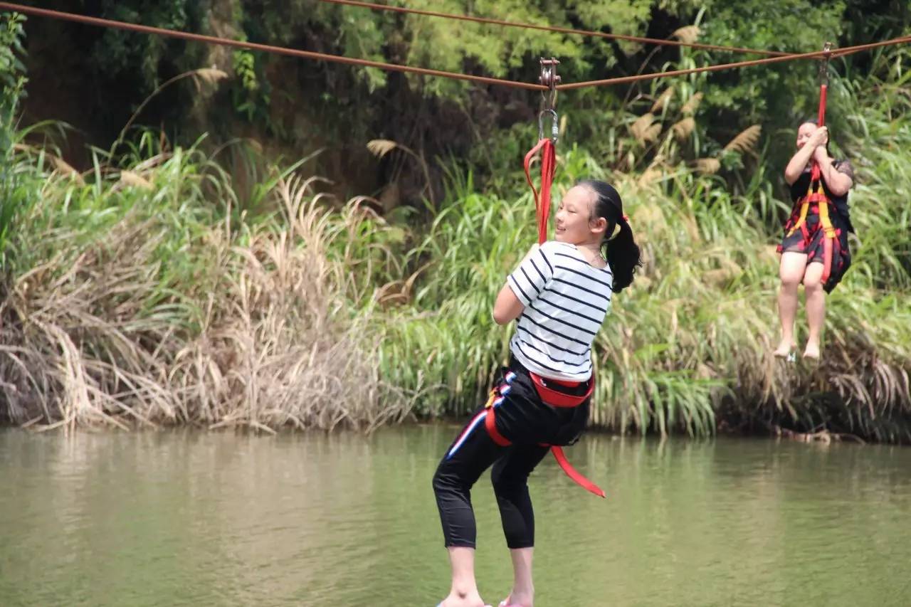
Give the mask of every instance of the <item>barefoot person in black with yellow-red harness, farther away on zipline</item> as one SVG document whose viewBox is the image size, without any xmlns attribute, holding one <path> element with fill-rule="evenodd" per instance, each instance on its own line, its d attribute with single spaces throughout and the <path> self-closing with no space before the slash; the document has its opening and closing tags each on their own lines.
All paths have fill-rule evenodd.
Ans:
<svg viewBox="0 0 911 607">
<path fill-rule="evenodd" d="M 848 210 L 848 190 L 854 185 L 854 169 L 847 160 L 829 155 L 828 129 L 806 120 L 797 130 L 797 152 L 784 170 L 794 202 L 791 217 L 784 224 L 784 237 L 778 245 L 782 253 L 778 294 L 778 314 L 782 341 L 774 355 L 791 356 L 797 347 L 793 338 L 797 314 L 797 286 L 804 283 L 806 315 L 810 334 L 804 358 L 819 358 L 819 334 L 825 319 L 825 293 L 851 265 L 848 232 L 854 231 Z M 814 180 L 818 165 L 818 180 Z"/>
</svg>

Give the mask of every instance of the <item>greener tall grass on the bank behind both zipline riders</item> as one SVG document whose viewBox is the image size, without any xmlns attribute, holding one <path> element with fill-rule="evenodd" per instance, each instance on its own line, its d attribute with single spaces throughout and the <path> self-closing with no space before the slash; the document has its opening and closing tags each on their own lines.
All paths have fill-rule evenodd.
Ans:
<svg viewBox="0 0 911 607">
<path fill-rule="evenodd" d="M 896 57 L 884 60 L 887 69 L 895 65 Z M 680 158 L 674 146 L 691 132 L 681 127 L 685 118 L 665 124 L 652 113 L 630 124 L 630 138 L 616 140 L 608 156 L 615 170 L 579 149 L 561 155 L 557 189 L 580 177 L 613 181 L 644 253 L 642 272 L 615 298 L 596 339 L 596 425 L 662 435 L 783 425 L 911 440 L 911 163 L 903 153 L 911 145 L 911 107 L 907 72 L 893 76 L 873 76 L 874 86 L 868 81 L 842 101 L 855 125 L 842 144 L 858 168 L 858 235 L 854 267 L 827 301 L 817 366 L 771 355 L 778 336 L 774 244 L 790 203 L 776 200 L 761 156 L 760 170 L 737 195 L 713 174 L 724 154 L 750 152 L 758 129 L 721 150 L 714 170 Z M 668 98 L 658 96 L 651 109 L 666 111 Z M 616 170 L 642 166 L 638 154 L 648 146 L 665 153 L 636 173 Z M 422 271 L 385 324 L 381 360 L 395 385 L 438 386 L 421 400 L 426 413 L 462 413 L 483 399 L 507 358 L 509 336 L 493 323 L 490 305 L 534 237 L 527 195 L 503 200 L 461 180 L 409 252 L 409 267 Z"/>
</svg>

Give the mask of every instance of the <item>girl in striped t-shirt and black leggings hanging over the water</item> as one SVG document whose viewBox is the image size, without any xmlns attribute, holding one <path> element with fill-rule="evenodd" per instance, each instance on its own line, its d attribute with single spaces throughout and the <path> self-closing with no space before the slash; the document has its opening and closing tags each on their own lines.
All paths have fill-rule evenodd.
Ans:
<svg viewBox="0 0 911 607">
<path fill-rule="evenodd" d="M 638 266 L 639 246 L 617 190 L 603 181 L 585 180 L 559 205 L 556 240 L 533 247 L 507 276 L 493 314 L 496 324 L 518 319 L 509 365 L 497 376 L 486 405 L 447 449 L 434 476 L 452 566 L 452 586 L 442 607 L 484 605 L 475 581 L 470 490 L 491 464 L 514 570 L 512 592 L 500 605 L 532 607 L 535 518 L 528 475 L 548 448 L 572 444 L 581 435 L 594 388 L 591 344 L 608 313 L 611 294 L 632 283 Z M 603 497 L 568 467 L 561 449 L 554 452 L 568 474 Z"/>
</svg>

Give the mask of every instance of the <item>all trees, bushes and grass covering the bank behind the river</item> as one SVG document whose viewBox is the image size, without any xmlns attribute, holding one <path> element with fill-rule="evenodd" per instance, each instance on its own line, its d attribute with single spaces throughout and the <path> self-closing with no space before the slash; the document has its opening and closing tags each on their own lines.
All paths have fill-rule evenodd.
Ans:
<svg viewBox="0 0 911 607">
<path fill-rule="evenodd" d="M 524 79 L 543 53 L 561 58 L 567 80 L 734 59 L 312 2 L 172 0 L 151 12 L 94 4 L 99 15 L 149 25 Z M 432 4 L 466 12 L 464 0 Z M 865 19 L 849 18 L 860 3 L 752 4 L 471 8 L 788 51 L 897 36 L 911 23 L 903 3 L 867 8 Z M 476 404 L 506 353 L 490 302 L 534 238 L 518 162 L 537 128 L 534 96 L 35 25 L 58 28 L 62 40 L 91 32 L 75 60 L 125 99 L 73 102 L 97 104 L 117 125 L 97 129 L 104 145 L 74 169 L 64 125 L 18 119 L 29 90 L 19 61 L 32 62 L 34 78 L 52 53 L 34 57 L 29 46 L 26 56 L 21 23 L 3 25 L 0 417 L 372 426 Z M 813 113 L 813 63 L 561 96 L 558 186 L 582 176 L 617 183 L 646 253 L 598 338 L 597 424 L 911 438 L 908 67 L 904 47 L 833 66 L 829 116 L 839 153 L 858 168 L 858 233 L 855 266 L 828 300 L 818 367 L 769 354 L 772 249 L 789 208 L 779 175 L 794 122 Z M 292 102 L 298 93 L 305 103 Z M 125 124 L 135 126 L 121 133 Z M 245 140 L 232 141 L 231 129 Z M 317 145 L 330 149 L 307 153 Z M 345 151 L 353 145 L 360 159 Z M 334 166 L 344 178 L 345 166 L 326 160 L 333 153 L 351 156 L 350 170 L 374 171 L 379 201 L 322 193 L 313 175 Z"/>
</svg>

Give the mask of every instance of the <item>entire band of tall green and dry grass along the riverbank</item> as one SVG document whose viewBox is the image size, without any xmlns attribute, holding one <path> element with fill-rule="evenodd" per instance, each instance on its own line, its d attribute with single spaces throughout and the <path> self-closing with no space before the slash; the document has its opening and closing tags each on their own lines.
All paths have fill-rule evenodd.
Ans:
<svg viewBox="0 0 911 607">
<path fill-rule="evenodd" d="M 596 426 L 911 440 L 906 53 L 877 56 L 864 87 L 835 87 L 857 235 L 827 299 L 820 365 L 771 355 L 773 248 L 790 204 L 774 194 L 780 168 L 755 149 L 758 128 L 702 149 L 700 92 L 686 81 L 630 101 L 597 155 L 561 149 L 557 195 L 583 177 L 615 183 L 644 259 L 596 339 Z M 502 193 L 524 188 L 478 191 L 470 171 L 452 170 L 439 206 L 380 218 L 367 199 L 317 193 L 302 162 L 261 164 L 239 185 L 201 140 L 170 149 L 145 133 L 116 157 L 96 150 L 80 174 L 13 137 L 0 418 L 372 428 L 464 413 L 506 362 L 509 332 L 490 306 L 535 239 L 529 195 Z M 732 173 L 750 156 L 748 179 Z"/>
</svg>

